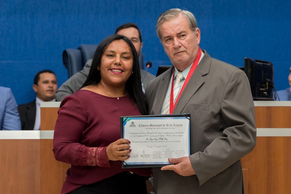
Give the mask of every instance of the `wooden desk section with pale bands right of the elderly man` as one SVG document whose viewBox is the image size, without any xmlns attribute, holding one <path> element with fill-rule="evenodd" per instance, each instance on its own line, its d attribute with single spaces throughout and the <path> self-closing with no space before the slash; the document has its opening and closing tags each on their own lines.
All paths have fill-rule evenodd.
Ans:
<svg viewBox="0 0 291 194">
<path fill-rule="evenodd" d="M 245 193 L 291 193 L 291 102 L 254 103 L 257 144 L 242 158 Z"/>
</svg>

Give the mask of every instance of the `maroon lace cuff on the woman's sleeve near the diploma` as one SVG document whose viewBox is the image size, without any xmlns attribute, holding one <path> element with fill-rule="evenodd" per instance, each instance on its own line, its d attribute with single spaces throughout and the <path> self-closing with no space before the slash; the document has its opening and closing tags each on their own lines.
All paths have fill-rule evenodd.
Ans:
<svg viewBox="0 0 291 194">
<path fill-rule="evenodd" d="M 78 160 L 80 166 L 110 167 L 107 158 L 107 147 L 84 147 Z"/>
</svg>

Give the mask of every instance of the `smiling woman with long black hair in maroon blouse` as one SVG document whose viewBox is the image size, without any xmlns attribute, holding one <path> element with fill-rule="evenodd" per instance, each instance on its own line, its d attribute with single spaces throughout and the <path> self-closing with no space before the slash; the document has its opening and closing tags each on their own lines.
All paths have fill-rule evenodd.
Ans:
<svg viewBox="0 0 291 194">
<path fill-rule="evenodd" d="M 105 38 L 95 51 L 87 80 L 61 102 L 54 156 L 69 163 L 61 193 L 146 193 L 148 168 L 121 168 L 130 141 L 120 139 L 120 116 L 146 115 L 138 57 L 122 35 Z"/>
</svg>

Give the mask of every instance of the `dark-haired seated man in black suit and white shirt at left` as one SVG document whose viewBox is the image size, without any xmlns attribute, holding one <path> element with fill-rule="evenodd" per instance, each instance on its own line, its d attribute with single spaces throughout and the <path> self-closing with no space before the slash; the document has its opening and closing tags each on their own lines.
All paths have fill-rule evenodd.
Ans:
<svg viewBox="0 0 291 194">
<path fill-rule="evenodd" d="M 42 70 L 34 77 L 32 86 L 36 99 L 18 106 L 22 130 L 40 130 L 40 102 L 55 102 L 58 88 L 56 75 L 51 70 Z"/>
</svg>

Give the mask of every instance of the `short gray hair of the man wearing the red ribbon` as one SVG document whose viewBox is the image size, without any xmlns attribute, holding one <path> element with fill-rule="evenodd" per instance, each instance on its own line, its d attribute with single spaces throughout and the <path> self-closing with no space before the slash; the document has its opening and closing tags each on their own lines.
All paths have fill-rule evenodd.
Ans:
<svg viewBox="0 0 291 194">
<path fill-rule="evenodd" d="M 160 38 L 160 40 L 162 40 L 162 35 L 161 35 L 161 31 L 160 31 L 160 26 L 168 19 L 173 19 L 178 17 L 180 14 L 182 14 L 188 21 L 189 27 L 190 29 L 195 32 L 196 28 L 197 28 L 197 22 L 196 22 L 196 18 L 194 17 L 194 15 L 187 11 L 187 10 L 181 10 L 178 8 L 175 9 L 169 9 L 167 11 L 165 11 L 164 13 L 162 13 L 159 18 L 157 19 L 157 24 L 156 24 L 156 31 L 157 31 L 157 35 Z"/>
</svg>

